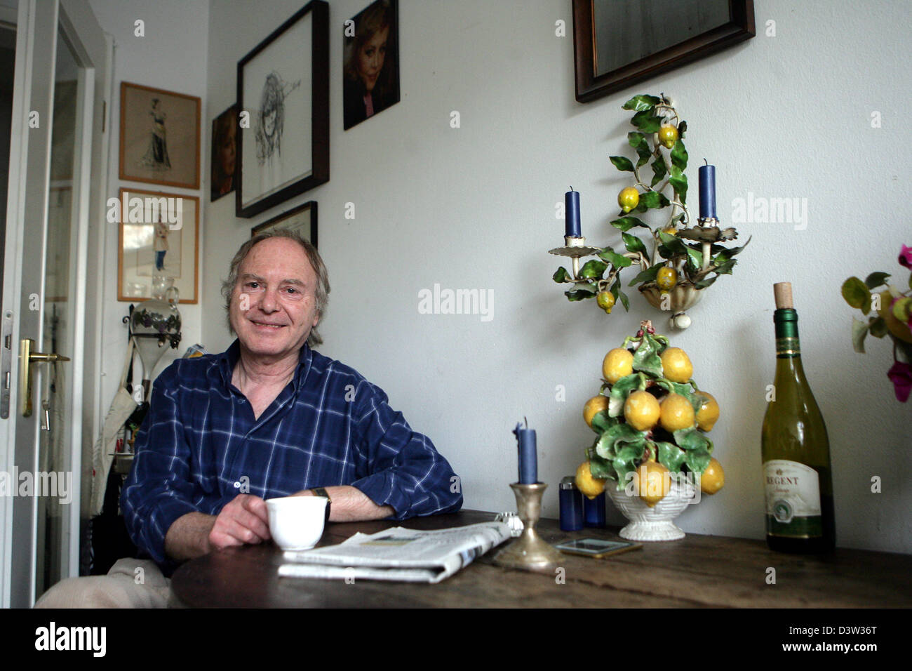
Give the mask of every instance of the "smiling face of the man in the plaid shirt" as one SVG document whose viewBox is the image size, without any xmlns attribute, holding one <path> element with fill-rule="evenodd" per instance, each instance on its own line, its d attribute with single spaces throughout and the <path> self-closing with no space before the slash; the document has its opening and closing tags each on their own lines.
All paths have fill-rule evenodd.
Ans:
<svg viewBox="0 0 912 671">
<path fill-rule="evenodd" d="M 319 321 L 316 272 L 294 240 L 257 243 L 238 271 L 229 319 L 247 354 L 266 360 L 297 355 Z"/>
</svg>

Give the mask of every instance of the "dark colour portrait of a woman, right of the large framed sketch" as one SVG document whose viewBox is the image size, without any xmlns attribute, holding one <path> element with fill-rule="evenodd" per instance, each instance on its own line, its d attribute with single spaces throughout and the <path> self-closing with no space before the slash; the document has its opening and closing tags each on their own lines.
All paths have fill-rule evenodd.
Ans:
<svg viewBox="0 0 912 671">
<path fill-rule="evenodd" d="M 399 2 L 377 0 L 345 22 L 342 103 L 347 131 L 399 102 Z"/>
</svg>

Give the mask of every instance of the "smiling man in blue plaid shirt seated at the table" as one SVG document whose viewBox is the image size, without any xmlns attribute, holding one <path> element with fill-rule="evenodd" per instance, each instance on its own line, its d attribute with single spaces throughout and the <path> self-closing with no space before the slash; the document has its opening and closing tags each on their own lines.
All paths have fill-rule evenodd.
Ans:
<svg viewBox="0 0 912 671">
<path fill-rule="evenodd" d="M 311 349 L 328 292 L 314 246 L 284 230 L 254 236 L 223 284 L 237 340 L 156 379 L 120 501 L 130 536 L 164 575 L 212 550 L 270 540 L 264 498 L 317 488 L 330 521 L 461 508 L 458 477 L 430 440 L 378 387 Z M 134 565 L 111 570 L 127 579 L 118 589 L 133 590 L 122 583 L 134 582 Z M 146 561 L 146 582 L 150 569 Z M 158 592 L 132 603 L 164 605 L 167 580 L 152 578 Z M 61 582 L 36 605 L 67 605 L 72 583 L 90 580 L 114 578 Z"/>
</svg>

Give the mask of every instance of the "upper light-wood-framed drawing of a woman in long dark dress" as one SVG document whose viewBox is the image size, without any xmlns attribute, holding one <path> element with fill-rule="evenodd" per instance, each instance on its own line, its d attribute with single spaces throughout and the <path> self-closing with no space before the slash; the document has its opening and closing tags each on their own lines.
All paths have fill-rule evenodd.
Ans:
<svg viewBox="0 0 912 671">
<path fill-rule="evenodd" d="M 119 177 L 200 188 L 200 99 L 121 82 Z"/>
</svg>

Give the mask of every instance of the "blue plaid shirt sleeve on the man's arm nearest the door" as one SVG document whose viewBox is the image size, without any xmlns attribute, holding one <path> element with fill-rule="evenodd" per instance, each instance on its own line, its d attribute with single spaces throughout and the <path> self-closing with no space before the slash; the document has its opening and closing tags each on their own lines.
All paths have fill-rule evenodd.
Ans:
<svg viewBox="0 0 912 671">
<path fill-rule="evenodd" d="M 160 564 L 169 563 L 165 535 L 171 524 L 198 509 L 191 502 L 191 449 L 181 425 L 178 370 L 179 362 L 174 362 L 155 381 L 134 445 L 133 467 L 120 493 L 130 538 Z"/>
</svg>

